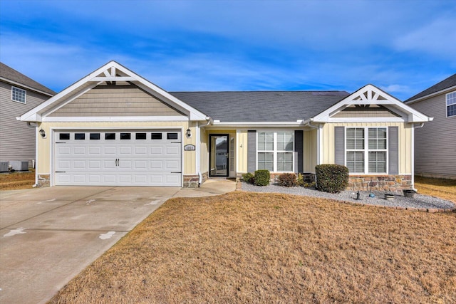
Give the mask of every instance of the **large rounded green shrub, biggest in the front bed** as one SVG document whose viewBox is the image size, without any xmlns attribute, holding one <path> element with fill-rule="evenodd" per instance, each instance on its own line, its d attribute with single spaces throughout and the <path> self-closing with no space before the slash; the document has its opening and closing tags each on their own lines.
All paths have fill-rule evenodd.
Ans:
<svg viewBox="0 0 456 304">
<path fill-rule="evenodd" d="M 336 193 L 348 186 L 348 168 L 340 164 L 318 164 L 315 173 L 319 191 Z"/>
</svg>

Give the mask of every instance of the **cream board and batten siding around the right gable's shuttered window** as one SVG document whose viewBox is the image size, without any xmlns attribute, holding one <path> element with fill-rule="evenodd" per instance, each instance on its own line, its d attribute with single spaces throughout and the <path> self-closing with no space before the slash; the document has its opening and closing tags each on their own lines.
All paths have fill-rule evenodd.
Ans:
<svg viewBox="0 0 456 304">
<path fill-rule="evenodd" d="M 335 127 L 398 127 L 399 173 L 412 172 L 412 125 L 401 122 L 333 122 L 326 123 L 321 130 L 321 164 L 335 164 Z M 416 144 L 415 144 L 416 145 Z"/>
</svg>

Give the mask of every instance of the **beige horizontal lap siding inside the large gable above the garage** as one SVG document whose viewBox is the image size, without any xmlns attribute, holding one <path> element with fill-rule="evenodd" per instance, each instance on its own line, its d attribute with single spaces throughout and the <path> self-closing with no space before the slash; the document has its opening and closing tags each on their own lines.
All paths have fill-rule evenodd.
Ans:
<svg viewBox="0 0 456 304">
<path fill-rule="evenodd" d="M 50 117 L 184 116 L 136 85 L 98 85 Z"/>
</svg>

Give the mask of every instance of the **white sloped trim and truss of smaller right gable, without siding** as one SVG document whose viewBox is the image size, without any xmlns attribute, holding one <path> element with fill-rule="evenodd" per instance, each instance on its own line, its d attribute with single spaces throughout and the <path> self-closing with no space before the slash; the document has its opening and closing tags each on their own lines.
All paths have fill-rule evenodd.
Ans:
<svg viewBox="0 0 456 304">
<path fill-rule="evenodd" d="M 332 107 L 324 110 L 323 112 L 316 115 L 315 117 L 312 117 L 308 121 L 335 122 L 336 118 L 333 118 L 331 116 L 347 108 L 349 105 L 384 105 L 387 106 L 387 108 L 389 108 L 390 110 L 396 108 L 401 112 L 404 112 L 406 114 L 407 122 L 432 121 L 432 117 L 427 117 L 422 112 L 410 108 L 408 105 L 405 105 L 405 103 L 394 98 L 392 95 L 389 95 L 388 93 L 383 92 L 383 90 L 380 90 L 379 88 L 375 87 L 375 85 L 365 85 L 363 88 L 357 90 L 355 93 L 352 93 L 351 95 L 348 95 L 346 98 L 343 98 L 343 100 L 336 103 L 336 105 L 333 105 Z M 356 120 L 356 118 L 353 118 L 353 120 Z M 394 119 L 390 120 L 394 121 Z"/>
</svg>

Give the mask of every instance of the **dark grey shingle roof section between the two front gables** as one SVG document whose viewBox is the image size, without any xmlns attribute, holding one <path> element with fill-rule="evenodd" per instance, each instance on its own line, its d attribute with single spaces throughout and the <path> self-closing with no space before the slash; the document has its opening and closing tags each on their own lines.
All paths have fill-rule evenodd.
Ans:
<svg viewBox="0 0 456 304">
<path fill-rule="evenodd" d="M 314 117 L 349 94 L 345 91 L 170 92 L 221 122 L 296 122 Z"/>
</svg>

